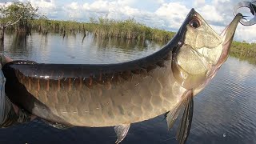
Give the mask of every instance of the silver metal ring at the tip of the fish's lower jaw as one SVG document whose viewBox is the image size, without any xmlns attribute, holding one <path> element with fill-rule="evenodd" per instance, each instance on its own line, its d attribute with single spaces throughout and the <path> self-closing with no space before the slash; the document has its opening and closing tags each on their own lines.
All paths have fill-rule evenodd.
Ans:
<svg viewBox="0 0 256 144">
<path fill-rule="evenodd" d="M 254 15 L 254 18 L 251 18 L 250 20 L 247 20 L 246 18 L 243 18 L 240 20 L 240 23 L 244 26 L 252 26 L 256 24 L 256 1 L 254 2 L 239 2 L 236 6 L 234 6 L 233 14 L 238 14 L 238 9 L 242 7 L 247 7 L 250 9 L 251 14 Z"/>
</svg>

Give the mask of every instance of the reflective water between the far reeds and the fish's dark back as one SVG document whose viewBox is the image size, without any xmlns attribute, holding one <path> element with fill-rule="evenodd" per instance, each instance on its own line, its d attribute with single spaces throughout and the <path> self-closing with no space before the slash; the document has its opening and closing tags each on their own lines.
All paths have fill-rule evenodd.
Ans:
<svg viewBox="0 0 256 144">
<path fill-rule="evenodd" d="M 27 38 L 10 34 L 6 37 L 5 54 L 14 59 L 43 63 L 113 63 L 141 58 L 164 45 L 142 40 L 94 38 L 92 34 L 87 34 L 82 43 L 82 38 L 83 34 L 66 34 L 65 38 L 62 34 L 32 33 Z"/>
</svg>

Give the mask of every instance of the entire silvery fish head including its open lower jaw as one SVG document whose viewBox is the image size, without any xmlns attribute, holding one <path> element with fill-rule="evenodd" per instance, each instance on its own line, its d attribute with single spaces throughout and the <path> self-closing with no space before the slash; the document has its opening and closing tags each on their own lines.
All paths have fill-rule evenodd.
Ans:
<svg viewBox="0 0 256 144">
<path fill-rule="evenodd" d="M 226 61 L 230 44 L 242 14 L 217 34 L 194 9 L 175 37 L 181 38 L 173 50 L 172 70 L 176 82 L 186 90 L 205 86 Z"/>
</svg>

